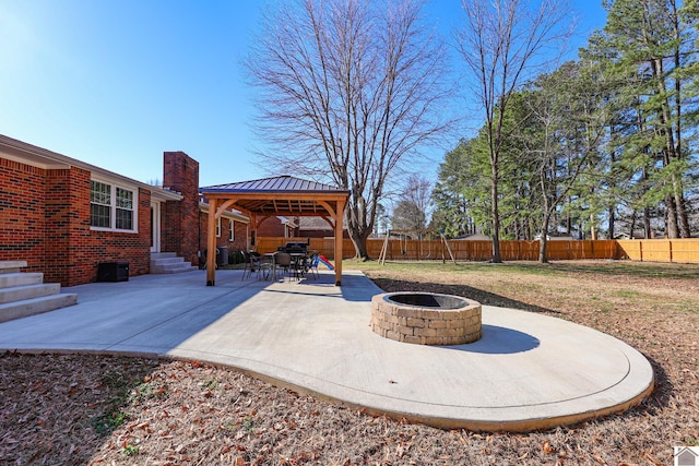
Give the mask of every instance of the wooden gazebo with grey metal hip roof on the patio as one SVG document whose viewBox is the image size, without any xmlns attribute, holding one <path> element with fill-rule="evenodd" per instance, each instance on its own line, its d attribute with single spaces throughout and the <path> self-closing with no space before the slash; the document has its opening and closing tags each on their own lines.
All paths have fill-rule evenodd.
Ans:
<svg viewBox="0 0 699 466">
<path fill-rule="evenodd" d="M 240 181 L 200 188 L 209 200 L 206 248 L 216 250 L 216 219 L 228 208 L 250 217 L 251 237 L 270 216 L 322 217 L 333 225 L 335 236 L 335 285 L 342 284 L 342 231 L 350 191 L 291 176 Z M 216 262 L 206 262 L 206 286 L 216 282 Z"/>
</svg>

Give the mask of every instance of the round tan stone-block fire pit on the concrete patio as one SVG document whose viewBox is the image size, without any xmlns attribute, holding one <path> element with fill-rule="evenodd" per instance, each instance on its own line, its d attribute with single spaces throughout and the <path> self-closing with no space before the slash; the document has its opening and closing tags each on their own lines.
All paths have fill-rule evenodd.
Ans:
<svg viewBox="0 0 699 466">
<path fill-rule="evenodd" d="M 384 292 L 371 298 L 371 330 L 419 345 L 462 345 L 481 338 L 481 303 L 431 292 Z"/>
</svg>

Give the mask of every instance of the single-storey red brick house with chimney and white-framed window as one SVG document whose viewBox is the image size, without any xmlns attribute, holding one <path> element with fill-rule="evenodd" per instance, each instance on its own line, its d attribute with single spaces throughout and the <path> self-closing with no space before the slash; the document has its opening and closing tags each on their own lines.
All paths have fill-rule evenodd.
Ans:
<svg viewBox="0 0 699 466">
<path fill-rule="evenodd" d="M 63 286 L 95 282 L 100 262 L 147 274 L 161 252 L 198 264 L 199 164 L 183 152 L 163 158 L 164 188 L 0 135 L 0 261 L 26 261 Z M 222 246 L 245 247 L 246 220 L 232 212 L 222 222 Z"/>
</svg>

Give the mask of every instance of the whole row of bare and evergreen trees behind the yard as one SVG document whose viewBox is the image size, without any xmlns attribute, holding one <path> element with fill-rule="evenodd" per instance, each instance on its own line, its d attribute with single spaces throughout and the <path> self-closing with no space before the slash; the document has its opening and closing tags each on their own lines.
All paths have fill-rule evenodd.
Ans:
<svg viewBox="0 0 699 466">
<path fill-rule="evenodd" d="M 540 236 L 545 259 L 557 231 L 699 230 L 697 0 L 605 1 L 605 27 L 561 65 L 569 2 L 461 5 L 451 37 L 420 0 L 270 5 L 246 60 L 260 164 L 348 190 L 358 258 L 392 191 L 394 223 L 419 227 L 431 200 L 433 228 L 490 235 L 495 262 L 500 237 Z M 483 127 L 446 154 L 430 193 L 411 167 L 455 127 L 446 109 L 464 81 L 448 72 L 449 45 Z"/>
</svg>

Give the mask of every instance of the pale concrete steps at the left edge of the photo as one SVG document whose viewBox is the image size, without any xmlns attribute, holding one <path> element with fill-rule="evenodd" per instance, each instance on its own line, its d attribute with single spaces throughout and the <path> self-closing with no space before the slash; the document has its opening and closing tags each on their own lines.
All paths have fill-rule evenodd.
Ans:
<svg viewBox="0 0 699 466">
<path fill-rule="evenodd" d="M 44 283 L 44 274 L 23 273 L 25 261 L 0 261 L 0 322 L 72 306 L 76 294 L 61 294 L 59 284 Z"/>
</svg>

